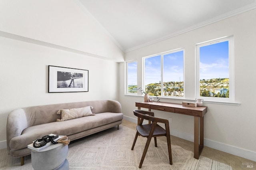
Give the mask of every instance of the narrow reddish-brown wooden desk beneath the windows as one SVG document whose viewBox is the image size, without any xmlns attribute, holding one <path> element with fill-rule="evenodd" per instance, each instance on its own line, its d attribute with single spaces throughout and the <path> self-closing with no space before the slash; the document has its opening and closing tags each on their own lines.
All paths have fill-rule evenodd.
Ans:
<svg viewBox="0 0 256 170">
<path fill-rule="evenodd" d="M 147 108 L 148 111 L 158 110 L 182 115 L 194 116 L 194 158 L 198 159 L 204 147 L 204 115 L 207 107 L 187 107 L 181 104 L 164 102 L 136 102 L 136 107 Z"/>
</svg>

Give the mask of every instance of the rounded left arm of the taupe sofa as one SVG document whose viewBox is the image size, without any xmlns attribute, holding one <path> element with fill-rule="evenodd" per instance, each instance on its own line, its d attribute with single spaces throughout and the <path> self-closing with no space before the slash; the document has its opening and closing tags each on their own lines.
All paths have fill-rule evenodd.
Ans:
<svg viewBox="0 0 256 170">
<path fill-rule="evenodd" d="M 6 143 L 9 154 L 10 140 L 21 135 L 22 131 L 28 127 L 26 113 L 23 109 L 16 109 L 9 113 L 6 124 Z"/>
</svg>

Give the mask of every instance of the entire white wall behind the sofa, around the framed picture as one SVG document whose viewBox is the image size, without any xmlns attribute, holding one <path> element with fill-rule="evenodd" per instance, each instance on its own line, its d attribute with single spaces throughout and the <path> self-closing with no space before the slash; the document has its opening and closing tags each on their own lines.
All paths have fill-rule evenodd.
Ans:
<svg viewBox="0 0 256 170">
<path fill-rule="evenodd" d="M 0 1 L 0 148 L 10 111 L 119 98 L 122 50 L 74 1 Z M 89 70 L 89 92 L 48 93 L 48 65 Z"/>
</svg>

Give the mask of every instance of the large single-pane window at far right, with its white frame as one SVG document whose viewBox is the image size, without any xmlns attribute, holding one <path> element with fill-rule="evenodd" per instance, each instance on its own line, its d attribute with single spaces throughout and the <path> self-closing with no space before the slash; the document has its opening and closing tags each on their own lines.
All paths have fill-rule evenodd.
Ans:
<svg viewBox="0 0 256 170">
<path fill-rule="evenodd" d="M 234 101 L 233 37 L 196 45 L 196 98 Z"/>
</svg>

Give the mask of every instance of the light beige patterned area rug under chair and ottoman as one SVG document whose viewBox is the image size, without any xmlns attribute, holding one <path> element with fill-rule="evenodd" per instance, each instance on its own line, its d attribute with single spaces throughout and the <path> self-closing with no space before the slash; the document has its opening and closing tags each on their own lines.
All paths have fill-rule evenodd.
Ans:
<svg viewBox="0 0 256 170">
<path fill-rule="evenodd" d="M 146 138 L 138 136 L 134 150 L 131 150 L 136 131 L 120 125 L 92 134 L 69 144 L 67 160 L 70 170 L 232 170 L 231 166 L 200 156 L 180 146 L 172 145 L 172 161 L 169 164 L 167 143 L 152 139 L 148 152 L 138 168 Z M 20 159 L 7 156 L 6 149 L 0 150 L 1 170 L 32 170 L 31 157 L 25 156 L 25 164 Z"/>
</svg>

